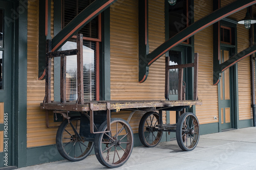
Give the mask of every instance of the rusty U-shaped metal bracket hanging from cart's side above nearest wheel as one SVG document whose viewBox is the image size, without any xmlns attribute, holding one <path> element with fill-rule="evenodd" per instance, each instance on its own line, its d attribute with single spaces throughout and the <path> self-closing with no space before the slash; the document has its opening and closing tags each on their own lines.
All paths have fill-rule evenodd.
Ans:
<svg viewBox="0 0 256 170">
<path fill-rule="evenodd" d="M 93 109 L 93 103 L 90 103 L 90 132 L 93 133 L 93 134 L 110 132 L 111 131 L 111 127 L 110 127 L 110 103 L 109 102 L 106 103 L 106 125 L 107 125 L 106 131 L 94 132 L 93 110 L 94 110 Z"/>
</svg>

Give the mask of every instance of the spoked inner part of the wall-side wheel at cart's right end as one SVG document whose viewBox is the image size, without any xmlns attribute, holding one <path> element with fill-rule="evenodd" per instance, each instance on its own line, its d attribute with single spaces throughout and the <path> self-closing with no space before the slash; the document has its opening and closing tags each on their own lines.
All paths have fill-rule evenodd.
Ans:
<svg viewBox="0 0 256 170">
<path fill-rule="evenodd" d="M 162 137 L 162 131 L 157 131 L 157 125 L 159 125 L 158 114 L 150 114 L 145 119 L 143 125 L 143 138 L 148 146 L 156 145 Z"/>
</svg>

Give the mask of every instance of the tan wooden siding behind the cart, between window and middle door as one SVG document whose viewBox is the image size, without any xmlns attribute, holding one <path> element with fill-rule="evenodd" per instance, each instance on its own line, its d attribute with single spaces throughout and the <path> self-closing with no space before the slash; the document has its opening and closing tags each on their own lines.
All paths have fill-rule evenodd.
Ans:
<svg viewBox="0 0 256 170">
<path fill-rule="evenodd" d="M 138 83 L 138 1 L 117 1 L 110 12 L 111 100 L 164 100 L 165 58 L 150 67 L 144 83 Z M 164 42 L 164 1 L 148 2 L 150 52 Z M 130 112 L 114 113 L 126 119 Z M 130 121 L 134 133 L 143 113 Z M 164 113 L 164 122 L 165 113 Z"/>
</svg>

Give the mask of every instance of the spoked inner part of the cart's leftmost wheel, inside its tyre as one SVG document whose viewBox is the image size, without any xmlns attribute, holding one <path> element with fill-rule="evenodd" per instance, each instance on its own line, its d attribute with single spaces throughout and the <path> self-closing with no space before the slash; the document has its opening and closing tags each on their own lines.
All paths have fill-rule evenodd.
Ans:
<svg viewBox="0 0 256 170">
<path fill-rule="evenodd" d="M 62 131 L 61 145 L 65 153 L 64 157 L 71 161 L 84 159 L 92 150 L 93 142 L 85 141 L 80 135 L 77 135 L 79 129 L 80 119 L 75 119 L 70 120 L 70 123 Z"/>
</svg>

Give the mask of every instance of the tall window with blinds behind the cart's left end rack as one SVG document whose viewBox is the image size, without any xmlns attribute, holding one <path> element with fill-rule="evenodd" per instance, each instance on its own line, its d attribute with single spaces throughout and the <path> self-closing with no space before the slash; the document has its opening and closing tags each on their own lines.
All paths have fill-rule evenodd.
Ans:
<svg viewBox="0 0 256 170">
<path fill-rule="evenodd" d="M 63 0 L 62 1 L 62 28 L 83 9 L 87 8 L 92 0 Z M 94 18 L 79 32 L 83 34 L 83 90 L 84 100 L 99 100 L 99 43 L 101 42 L 101 15 Z M 76 36 L 73 36 L 62 50 L 76 48 Z M 77 72 L 76 57 L 67 57 L 67 100 L 77 99 Z"/>
</svg>

